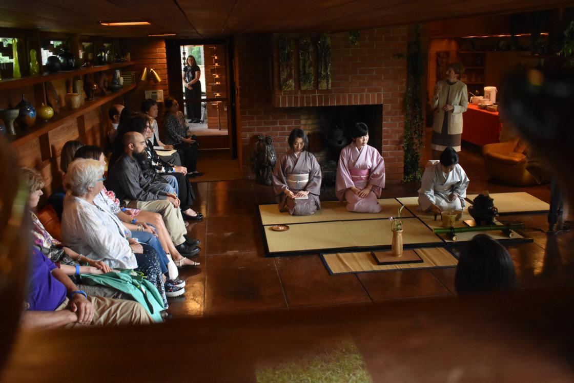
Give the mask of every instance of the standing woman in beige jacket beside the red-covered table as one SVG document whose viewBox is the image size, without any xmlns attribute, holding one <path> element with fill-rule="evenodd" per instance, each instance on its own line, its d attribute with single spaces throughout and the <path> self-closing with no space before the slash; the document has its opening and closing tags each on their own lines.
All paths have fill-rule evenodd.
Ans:
<svg viewBox="0 0 574 383">
<path fill-rule="evenodd" d="M 463 132 L 463 113 L 467 111 L 467 86 L 460 81 L 464 68 L 459 62 L 448 64 L 444 80 L 437 81 L 432 105 L 435 115 L 432 126 L 433 159 L 439 159 L 447 147 L 460 151 L 460 137 Z"/>
</svg>

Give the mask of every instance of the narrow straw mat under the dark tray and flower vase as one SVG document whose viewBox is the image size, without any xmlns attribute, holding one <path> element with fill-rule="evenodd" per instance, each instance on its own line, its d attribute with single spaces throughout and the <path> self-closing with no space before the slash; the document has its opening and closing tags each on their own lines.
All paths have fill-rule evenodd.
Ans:
<svg viewBox="0 0 574 383">
<path fill-rule="evenodd" d="M 444 248 L 417 248 L 414 251 L 421 257 L 422 263 L 378 265 L 371 252 L 323 253 L 321 259 L 331 275 L 455 267 L 458 263 L 456 257 Z"/>
</svg>

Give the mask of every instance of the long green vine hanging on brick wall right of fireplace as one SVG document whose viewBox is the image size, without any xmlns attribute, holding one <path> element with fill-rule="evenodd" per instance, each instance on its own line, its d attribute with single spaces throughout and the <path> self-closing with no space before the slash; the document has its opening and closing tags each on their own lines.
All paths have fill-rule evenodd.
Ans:
<svg viewBox="0 0 574 383">
<path fill-rule="evenodd" d="M 421 79 L 423 60 L 421 52 L 420 24 L 415 26 L 414 38 L 409 42 L 406 55 L 407 79 L 405 91 L 405 150 L 403 182 L 421 179 L 421 150 L 424 148 L 424 126 L 422 120 Z"/>
</svg>

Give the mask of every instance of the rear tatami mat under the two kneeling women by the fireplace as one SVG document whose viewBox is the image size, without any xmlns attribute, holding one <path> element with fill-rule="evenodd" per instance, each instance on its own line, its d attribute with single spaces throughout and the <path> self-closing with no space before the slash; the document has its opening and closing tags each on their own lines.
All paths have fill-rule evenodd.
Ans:
<svg viewBox="0 0 574 383">
<path fill-rule="evenodd" d="M 349 221 L 349 220 L 374 220 L 397 216 L 401 204 L 394 198 L 382 198 L 379 200 L 383 210 L 380 213 L 354 213 L 348 212 L 346 202 L 321 201 L 321 209 L 311 216 L 292 216 L 288 212 L 280 212 L 277 204 L 259 205 L 259 214 L 263 225 L 301 224 L 305 222 L 325 221 Z M 405 214 L 406 213 L 406 214 Z M 408 212 L 403 216 L 412 217 Z"/>
</svg>

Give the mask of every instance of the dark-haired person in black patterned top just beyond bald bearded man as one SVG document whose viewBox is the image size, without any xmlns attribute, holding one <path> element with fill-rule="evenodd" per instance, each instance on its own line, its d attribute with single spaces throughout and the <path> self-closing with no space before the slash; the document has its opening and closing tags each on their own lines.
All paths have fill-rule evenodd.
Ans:
<svg viewBox="0 0 574 383">
<path fill-rule="evenodd" d="M 135 131 L 144 135 L 145 138 L 149 138 L 153 133 L 150 129 L 150 120 L 145 115 L 134 116 L 129 120 L 129 131 Z M 188 220 L 201 220 L 203 214 L 196 213 L 191 205 L 195 199 L 195 194 L 189 179 L 185 177 L 187 169 L 183 166 L 174 167 L 173 165 L 166 163 L 160 159 L 156 154 L 156 151 L 149 144 L 149 140 L 146 139 L 145 147 L 145 159 L 138 159 L 139 166 L 142 169 L 142 174 L 149 182 L 161 181 L 161 178 L 166 179 L 170 185 L 175 185 L 175 190 L 177 192 L 177 197 L 180 200 L 181 214 L 185 219 Z"/>
</svg>

